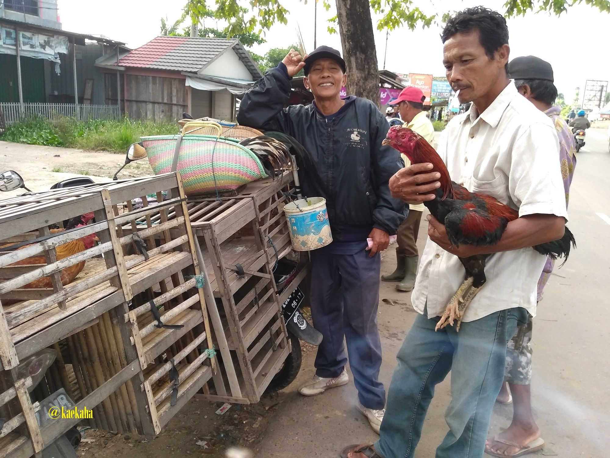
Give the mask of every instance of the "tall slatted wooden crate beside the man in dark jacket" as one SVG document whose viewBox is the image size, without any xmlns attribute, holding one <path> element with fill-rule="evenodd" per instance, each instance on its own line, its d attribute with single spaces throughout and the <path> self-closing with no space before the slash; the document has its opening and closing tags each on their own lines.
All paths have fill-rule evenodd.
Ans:
<svg viewBox="0 0 610 458">
<path fill-rule="evenodd" d="M 291 249 L 283 206 L 293 193 L 292 173 L 285 173 L 249 183 L 223 202 L 189 198 L 222 355 L 216 394 L 207 399 L 258 402 L 290 352 L 273 265 Z"/>
</svg>

